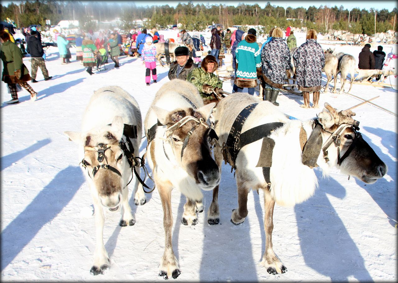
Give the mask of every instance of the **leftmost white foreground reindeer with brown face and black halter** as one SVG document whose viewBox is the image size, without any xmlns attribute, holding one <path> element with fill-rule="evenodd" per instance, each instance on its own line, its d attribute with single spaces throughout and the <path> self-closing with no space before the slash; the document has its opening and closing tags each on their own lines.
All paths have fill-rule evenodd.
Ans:
<svg viewBox="0 0 398 283">
<path fill-rule="evenodd" d="M 82 132 L 64 132 L 79 145 L 80 164 L 94 202 L 96 249 L 90 270 L 92 275 L 103 274 L 109 265 L 109 255 L 103 244 L 103 210 L 120 211 L 119 225 L 122 227 L 135 224 L 127 185 L 131 166 L 139 155 L 141 128 L 141 112 L 133 96 L 119 86 L 105 86 L 90 98 L 83 115 Z M 137 178 L 134 194 L 135 204 L 146 202 Z"/>
</svg>

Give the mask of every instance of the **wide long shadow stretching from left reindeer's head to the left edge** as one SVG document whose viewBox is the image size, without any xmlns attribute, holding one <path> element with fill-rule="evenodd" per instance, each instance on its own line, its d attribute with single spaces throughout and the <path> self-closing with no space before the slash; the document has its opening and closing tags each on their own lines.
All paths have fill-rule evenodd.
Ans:
<svg viewBox="0 0 398 283">
<path fill-rule="evenodd" d="M 4 228 L 1 233 L 1 270 L 29 244 L 43 226 L 61 212 L 83 183 L 82 170 L 78 166 L 66 167 Z"/>
</svg>

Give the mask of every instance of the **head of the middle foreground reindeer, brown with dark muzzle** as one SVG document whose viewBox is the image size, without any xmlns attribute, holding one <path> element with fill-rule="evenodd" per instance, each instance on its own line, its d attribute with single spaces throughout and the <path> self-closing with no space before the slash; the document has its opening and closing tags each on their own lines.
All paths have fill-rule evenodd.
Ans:
<svg viewBox="0 0 398 283">
<path fill-rule="evenodd" d="M 213 189 L 220 181 L 220 171 L 211 153 L 213 130 L 206 124 L 214 105 L 171 112 L 152 106 L 159 121 L 167 127 L 166 142 L 170 143 L 174 155 L 170 160 L 175 160 L 204 190 Z"/>
</svg>

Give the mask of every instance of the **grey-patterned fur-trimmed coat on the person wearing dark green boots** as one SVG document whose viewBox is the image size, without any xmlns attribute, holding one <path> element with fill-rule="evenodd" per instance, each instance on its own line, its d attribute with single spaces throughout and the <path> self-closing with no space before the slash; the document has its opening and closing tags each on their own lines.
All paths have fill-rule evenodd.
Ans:
<svg viewBox="0 0 398 283">
<path fill-rule="evenodd" d="M 290 69 L 290 52 L 281 37 L 273 37 L 261 51 L 263 79 L 268 85 L 281 88 L 286 70 Z"/>
</svg>

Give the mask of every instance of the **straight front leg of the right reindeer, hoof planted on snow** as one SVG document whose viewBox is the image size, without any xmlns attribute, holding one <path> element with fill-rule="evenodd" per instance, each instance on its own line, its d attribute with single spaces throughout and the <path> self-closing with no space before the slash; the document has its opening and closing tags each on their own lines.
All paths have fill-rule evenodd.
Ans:
<svg viewBox="0 0 398 283">
<path fill-rule="evenodd" d="M 275 255 L 272 248 L 272 230 L 273 230 L 273 208 L 275 201 L 271 195 L 264 190 L 264 230 L 265 230 L 265 252 L 261 264 L 267 269 L 269 274 L 276 275 L 278 273 L 285 273 L 287 268 Z"/>
</svg>

